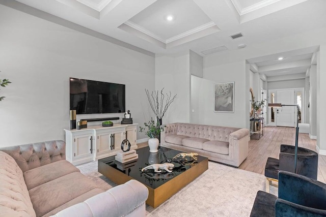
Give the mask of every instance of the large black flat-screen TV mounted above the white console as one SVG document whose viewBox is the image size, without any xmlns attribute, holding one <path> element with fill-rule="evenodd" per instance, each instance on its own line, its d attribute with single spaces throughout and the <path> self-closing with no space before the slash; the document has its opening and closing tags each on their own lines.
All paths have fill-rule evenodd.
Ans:
<svg viewBox="0 0 326 217">
<path fill-rule="evenodd" d="M 70 78 L 70 110 L 76 114 L 125 112 L 125 85 Z"/>
</svg>

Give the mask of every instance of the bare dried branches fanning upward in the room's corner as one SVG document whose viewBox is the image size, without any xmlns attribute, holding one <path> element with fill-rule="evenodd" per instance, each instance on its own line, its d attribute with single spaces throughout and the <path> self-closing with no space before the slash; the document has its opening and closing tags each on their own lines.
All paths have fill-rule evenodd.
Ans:
<svg viewBox="0 0 326 217">
<path fill-rule="evenodd" d="M 160 125 L 162 125 L 162 118 L 164 114 L 174 99 L 177 97 L 177 95 L 172 96 L 171 91 L 164 94 L 163 90 L 164 88 L 162 88 L 160 92 L 158 92 L 158 90 L 152 91 L 150 94 L 148 89 L 145 89 L 149 105 L 151 106 L 151 109 L 156 116 L 157 122 L 159 122 Z"/>
</svg>

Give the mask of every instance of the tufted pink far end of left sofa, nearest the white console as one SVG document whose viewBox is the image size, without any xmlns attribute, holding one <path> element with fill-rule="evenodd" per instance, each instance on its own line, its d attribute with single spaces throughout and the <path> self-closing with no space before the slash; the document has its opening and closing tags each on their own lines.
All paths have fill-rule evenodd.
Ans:
<svg viewBox="0 0 326 217">
<path fill-rule="evenodd" d="M 62 140 L 4 147 L 0 150 L 15 159 L 22 172 L 66 159 L 66 143 Z"/>
</svg>

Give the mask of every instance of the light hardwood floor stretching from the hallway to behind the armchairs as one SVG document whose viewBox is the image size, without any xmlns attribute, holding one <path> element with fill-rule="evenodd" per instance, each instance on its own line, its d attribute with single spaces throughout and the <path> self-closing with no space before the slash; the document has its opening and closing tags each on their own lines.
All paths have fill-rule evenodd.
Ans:
<svg viewBox="0 0 326 217">
<path fill-rule="evenodd" d="M 264 136 L 259 140 L 249 141 L 249 153 L 246 160 L 240 165 L 240 169 L 264 174 L 264 168 L 268 157 L 279 158 L 281 144 L 295 144 L 295 128 L 265 127 Z M 147 142 L 139 143 L 138 147 L 146 146 Z M 300 133 L 298 146 L 316 151 L 316 140 L 310 139 L 309 134 Z M 326 183 L 326 156 L 318 158 L 318 181 Z"/>
</svg>

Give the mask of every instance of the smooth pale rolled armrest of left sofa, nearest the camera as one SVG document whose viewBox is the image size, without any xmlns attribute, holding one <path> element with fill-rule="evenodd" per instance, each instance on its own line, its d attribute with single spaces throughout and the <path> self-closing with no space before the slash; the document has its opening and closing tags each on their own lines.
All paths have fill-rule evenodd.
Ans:
<svg viewBox="0 0 326 217">
<path fill-rule="evenodd" d="M 145 185 L 132 179 L 52 216 L 145 216 L 147 197 Z"/>
</svg>

